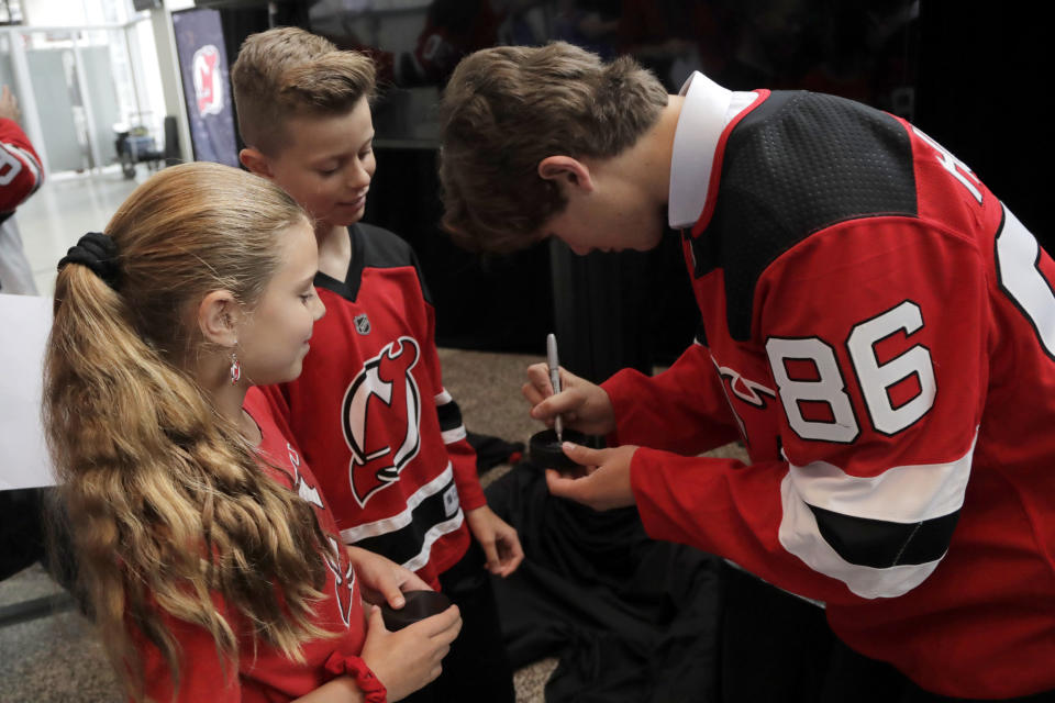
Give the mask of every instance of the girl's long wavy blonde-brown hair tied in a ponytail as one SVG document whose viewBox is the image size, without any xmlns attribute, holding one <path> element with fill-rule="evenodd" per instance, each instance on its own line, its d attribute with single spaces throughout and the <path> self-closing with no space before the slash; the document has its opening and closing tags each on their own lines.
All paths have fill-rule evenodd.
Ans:
<svg viewBox="0 0 1055 703">
<path fill-rule="evenodd" d="M 142 646 L 158 648 L 178 685 L 180 651 L 164 616 L 203 627 L 232 667 L 240 636 L 295 660 L 301 643 L 326 636 L 312 622 L 327 549 L 313 510 L 267 478 L 192 372 L 206 344 L 195 323 L 202 299 L 227 290 L 252 313 L 280 242 L 304 222 L 263 178 L 175 166 L 107 225 L 119 290 L 85 266 L 58 274 L 44 425 L 82 585 L 135 700 Z M 213 595 L 251 632 L 234 632 Z"/>
</svg>

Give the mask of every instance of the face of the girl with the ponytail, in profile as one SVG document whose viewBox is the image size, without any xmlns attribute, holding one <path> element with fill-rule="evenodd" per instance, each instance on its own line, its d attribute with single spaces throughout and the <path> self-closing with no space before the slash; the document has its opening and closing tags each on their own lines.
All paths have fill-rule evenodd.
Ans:
<svg viewBox="0 0 1055 703">
<path fill-rule="evenodd" d="M 308 222 L 287 230 L 279 247 L 281 265 L 238 330 L 242 373 L 254 386 L 300 376 L 312 326 L 326 312 L 312 282 L 319 270 L 319 250 Z"/>
</svg>

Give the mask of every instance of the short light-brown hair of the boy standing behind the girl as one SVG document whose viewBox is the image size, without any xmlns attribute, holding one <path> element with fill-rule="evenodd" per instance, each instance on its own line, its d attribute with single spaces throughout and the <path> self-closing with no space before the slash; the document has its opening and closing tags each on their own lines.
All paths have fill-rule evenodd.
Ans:
<svg viewBox="0 0 1055 703">
<path fill-rule="evenodd" d="M 253 34 L 231 67 L 242 140 L 268 156 L 289 143 L 286 120 L 331 115 L 374 97 L 376 69 L 365 54 L 342 52 L 304 30 L 285 26 Z"/>
</svg>

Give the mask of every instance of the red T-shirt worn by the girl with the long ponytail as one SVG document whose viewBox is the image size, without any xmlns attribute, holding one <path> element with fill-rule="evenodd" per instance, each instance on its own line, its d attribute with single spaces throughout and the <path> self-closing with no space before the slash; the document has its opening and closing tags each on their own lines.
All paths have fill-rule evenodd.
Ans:
<svg viewBox="0 0 1055 703">
<path fill-rule="evenodd" d="M 280 431 L 280 419 L 277 422 L 273 416 L 267 399 L 251 388 L 244 408 L 263 434 L 260 455 L 281 469 L 278 471 L 265 465 L 266 470 L 280 484 L 297 491 L 311 503 L 323 532 L 335 536 L 336 524 L 329 505 L 311 470 Z M 325 667 L 332 655 L 359 654 L 366 632 L 358 584 L 344 546 L 333 538 L 331 547 L 332 551 L 324 555 L 329 567 L 323 591 L 326 598 L 315 605 L 315 623 L 337 635 L 306 644 L 302 649 L 306 661 L 298 663 L 266 644 L 254 644 L 252 624 L 214 599 L 216 609 L 240 637 L 238 669 L 232 672 L 224 670 L 208 631 L 169 617 L 168 625 L 182 648 L 179 701 L 289 701 L 314 691 L 333 678 Z M 145 648 L 143 657 L 147 695 L 155 701 L 170 701 L 171 680 L 164 658 L 154 647 Z"/>
</svg>

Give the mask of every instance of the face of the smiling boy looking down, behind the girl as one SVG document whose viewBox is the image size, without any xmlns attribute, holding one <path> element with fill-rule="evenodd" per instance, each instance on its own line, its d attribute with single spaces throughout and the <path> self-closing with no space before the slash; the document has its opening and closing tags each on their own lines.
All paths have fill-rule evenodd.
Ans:
<svg viewBox="0 0 1055 703">
<path fill-rule="evenodd" d="M 319 224 L 358 222 L 377 169 L 366 98 L 345 114 L 290 118 L 286 133 L 290 142 L 277 156 L 265 157 L 270 172 L 262 175 L 284 188 Z"/>
</svg>

